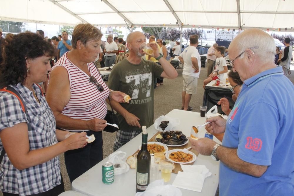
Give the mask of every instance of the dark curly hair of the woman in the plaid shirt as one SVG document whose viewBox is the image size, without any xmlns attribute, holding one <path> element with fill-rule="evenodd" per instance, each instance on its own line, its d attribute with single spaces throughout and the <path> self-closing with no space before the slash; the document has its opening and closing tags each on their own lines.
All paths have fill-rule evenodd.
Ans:
<svg viewBox="0 0 294 196">
<path fill-rule="evenodd" d="M 26 58 L 54 56 L 54 52 L 54 46 L 36 33 L 19 33 L 13 36 L 8 43 L 4 43 L 0 88 L 24 83 L 27 76 Z"/>
</svg>

